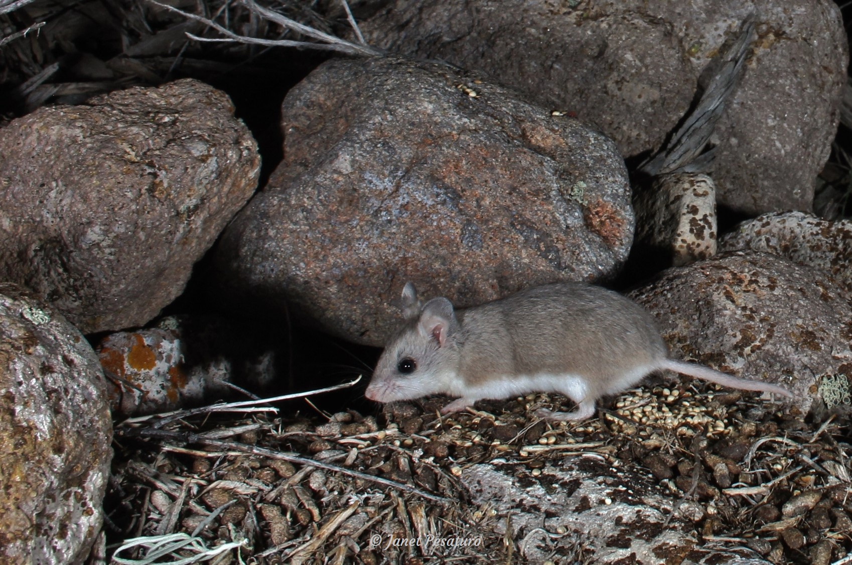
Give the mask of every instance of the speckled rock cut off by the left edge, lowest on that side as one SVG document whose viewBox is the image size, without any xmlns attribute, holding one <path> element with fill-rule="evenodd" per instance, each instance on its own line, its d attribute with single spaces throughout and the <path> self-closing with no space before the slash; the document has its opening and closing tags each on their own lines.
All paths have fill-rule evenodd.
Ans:
<svg viewBox="0 0 852 565">
<path fill-rule="evenodd" d="M 0 562 L 79 563 L 112 459 L 101 364 L 54 308 L 0 284 Z"/>
</svg>

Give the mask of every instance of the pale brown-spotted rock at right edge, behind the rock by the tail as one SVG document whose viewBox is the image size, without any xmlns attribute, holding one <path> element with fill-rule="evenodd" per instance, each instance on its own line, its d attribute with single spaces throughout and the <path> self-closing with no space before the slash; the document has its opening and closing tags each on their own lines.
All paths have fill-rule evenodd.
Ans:
<svg viewBox="0 0 852 565">
<path fill-rule="evenodd" d="M 821 268 L 852 292 L 852 222 L 849 220 L 829 222 L 803 212 L 764 214 L 742 222 L 719 245 L 720 251 L 763 251 Z"/>
</svg>

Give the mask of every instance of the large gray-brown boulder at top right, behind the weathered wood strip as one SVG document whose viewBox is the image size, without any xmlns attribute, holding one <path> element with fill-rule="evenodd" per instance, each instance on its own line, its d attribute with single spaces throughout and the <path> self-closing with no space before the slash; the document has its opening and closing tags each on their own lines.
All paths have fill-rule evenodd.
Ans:
<svg viewBox="0 0 852 565">
<path fill-rule="evenodd" d="M 626 157 L 662 144 L 751 12 L 753 53 L 714 135 L 719 201 L 752 214 L 810 210 L 848 61 L 831 0 L 395 0 L 361 30 L 377 47 L 486 72 L 576 112 Z"/>
</svg>

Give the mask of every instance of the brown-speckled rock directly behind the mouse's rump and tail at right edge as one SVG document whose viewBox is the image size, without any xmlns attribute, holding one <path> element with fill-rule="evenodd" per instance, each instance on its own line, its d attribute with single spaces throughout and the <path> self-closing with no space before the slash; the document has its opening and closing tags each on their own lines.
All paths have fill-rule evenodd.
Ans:
<svg viewBox="0 0 852 565">
<path fill-rule="evenodd" d="M 780 383 L 803 412 L 852 377 L 852 300 L 820 269 L 734 252 L 671 268 L 631 297 L 655 315 L 672 356 Z"/>
</svg>

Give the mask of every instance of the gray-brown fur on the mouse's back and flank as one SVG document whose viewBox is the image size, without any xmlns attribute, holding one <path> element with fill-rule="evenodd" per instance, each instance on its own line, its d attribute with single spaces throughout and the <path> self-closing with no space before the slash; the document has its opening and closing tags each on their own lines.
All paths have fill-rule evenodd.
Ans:
<svg viewBox="0 0 852 565">
<path fill-rule="evenodd" d="M 599 286 L 538 286 L 456 314 L 459 373 L 469 385 L 539 373 L 610 383 L 619 371 L 655 366 L 667 356 L 650 314 Z"/>
</svg>

